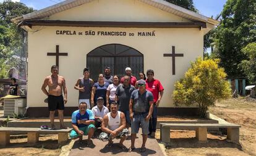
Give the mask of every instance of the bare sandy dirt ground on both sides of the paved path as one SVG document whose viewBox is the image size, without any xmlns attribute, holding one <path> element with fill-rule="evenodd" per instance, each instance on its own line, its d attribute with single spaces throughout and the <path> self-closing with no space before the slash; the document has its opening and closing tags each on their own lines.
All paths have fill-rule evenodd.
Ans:
<svg viewBox="0 0 256 156">
<path fill-rule="evenodd" d="M 256 156 L 256 100 L 239 98 L 217 102 L 210 113 L 230 123 L 241 125 L 241 144 L 226 142 L 223 134 L 208 133 L 207 144 L 195 139 L 195 131 L 171 131 L 172 143 L 166 147 L 167 155 L 255 155 Z M 159 120 L 195 120 L 193 117 L 163 117 Z M 27 145 L 27 136 L 12 136 L 11 145 L 0 149 L 0 155 L 55 156 L 61 154 L 57 135 L 45 135 L 35 146 Z M 160 131 L 156 133 L 160 139 Z M 67 142 L 69 144 L 69 142 Z"/>
</svg>

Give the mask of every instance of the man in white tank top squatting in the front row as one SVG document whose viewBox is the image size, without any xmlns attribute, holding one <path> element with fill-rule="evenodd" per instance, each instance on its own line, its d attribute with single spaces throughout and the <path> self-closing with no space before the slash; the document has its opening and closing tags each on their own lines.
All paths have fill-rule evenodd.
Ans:
<svg viewBox="0 0 256 156">
<path fill-rule="evenodd" d="M 121 139 L 119 142 L 119 147 L 123 150 L 127 150 L 123 142 L 126 140 L 129 131 L 126 128 L 126 117 L 124 113 L 117 111 L 118 106 L 116 102 L 112 102 L 110 105 L 110 111 L 103 118 L 101 125 L 101 131 L 99 139 L 101 141 L 108 141 L 107 147 L 113 146 L 113 139 Z"/>
</svg>

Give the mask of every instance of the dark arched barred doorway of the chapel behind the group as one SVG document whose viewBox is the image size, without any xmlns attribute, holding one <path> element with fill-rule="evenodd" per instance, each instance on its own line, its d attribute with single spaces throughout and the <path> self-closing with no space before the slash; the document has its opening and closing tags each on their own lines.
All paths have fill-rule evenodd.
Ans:
<svg viewBox="0 0 256 156">
<path fill-rule="evenodd" d="M 87 67 L 90 77 L 98 81 L 99 73 L 104 73 L 105 67 L 111 68 L 111 75 L 125 75 L 125 68 L 132 68 L 132 75 L 138 79 L 143 72 L 143 54 L 136 49 L 122 44 L 106 44 L 96 47 L 87 54 Z"/>
</svg>

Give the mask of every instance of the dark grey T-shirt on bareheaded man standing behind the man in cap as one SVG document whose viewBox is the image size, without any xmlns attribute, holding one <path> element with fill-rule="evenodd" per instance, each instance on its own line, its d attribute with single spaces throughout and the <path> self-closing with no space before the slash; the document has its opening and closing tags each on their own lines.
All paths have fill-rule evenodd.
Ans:
<svg viewBox="0 0 256 156">
<path fill-rule="evenodd" d="M 118 96 L 118 105 L 120 111 L 129 111 L 130 95 L 134 90 L 134 86 L 129 85 L 129 87 L 125 88 L 124 84 L 119 84 L 119 86 L 116 88 L 115 94 Z"/>
</svg>

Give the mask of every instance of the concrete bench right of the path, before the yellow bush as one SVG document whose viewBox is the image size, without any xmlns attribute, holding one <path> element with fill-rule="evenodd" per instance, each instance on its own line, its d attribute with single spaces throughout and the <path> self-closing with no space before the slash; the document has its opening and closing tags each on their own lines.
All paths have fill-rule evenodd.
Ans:
<svg viewBox="0 0 256 156">
<path fill-rule="evenodd" d="M 233 123 L 161 123 L 160 139 L 164 143 L 171 142 L 170 129 L 195 129 L 195 137 L 200 142 L 207 142 L 207 128 L 227 128 L 227 139 L 239 143 L 240 125 Z"/>
</svg>

